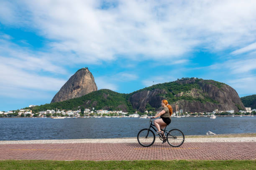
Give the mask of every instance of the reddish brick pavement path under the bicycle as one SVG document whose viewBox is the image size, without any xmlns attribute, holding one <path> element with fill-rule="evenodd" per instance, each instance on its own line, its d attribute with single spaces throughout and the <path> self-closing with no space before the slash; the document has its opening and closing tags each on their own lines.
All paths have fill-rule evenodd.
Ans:
<svg viewBox="0 0 256 170">
<path fill-rule="evenodd" d="M 0 151 L 0 160 L 255 160 L 256 142 L 4 144 Z"/>
</svg>

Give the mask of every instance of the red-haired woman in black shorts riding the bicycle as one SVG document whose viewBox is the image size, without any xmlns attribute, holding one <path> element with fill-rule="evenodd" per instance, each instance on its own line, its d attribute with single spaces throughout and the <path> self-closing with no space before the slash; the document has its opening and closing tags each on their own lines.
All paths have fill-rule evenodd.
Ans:
<svg viewBox="0 0 256 170">
<path fill-rule="evenodd" d="M 171 115 L 172 115 L 172 106 L 170 106 L 167 102 L 167 100 L 162 100 L 161 102 L 161 106 L 164 107 L 164 109 L 159 112 L 156 116 L 154 116 L 153 118 L 156 117 L 161 117 L 160 119 L 156 119 L 154 120 L 154 125 L 157 128 L 157 132 L 156 134 L 161 133 L 163 135 L 164 138 L 164 131 L 161 131 L 161 129 L 164 129 L 166 125 L 169 125 L 171 122 Z M 163 143 L 166 142 L 166 139 L 164 138 Z"/>
</svg>

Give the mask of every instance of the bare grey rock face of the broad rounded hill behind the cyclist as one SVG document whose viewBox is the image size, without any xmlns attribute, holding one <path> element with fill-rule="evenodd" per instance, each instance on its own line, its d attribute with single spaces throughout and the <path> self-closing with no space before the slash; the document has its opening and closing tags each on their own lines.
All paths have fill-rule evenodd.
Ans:
<svg viewBox="0 0 256 170">
<path fill-rule="evenodd" d="M 198 88 L 184 90 L 176 94 L 175 97 L 187 96 L 193 99 L 169 101 L 174 111 L 179 111 L 180 109 L 183 112 L 212 112 L 215 109 L 223 111 L 235 110 L 235 112 L 245 110 L 236 90 L 224 83 L 216 85 L 215 81 L 202 79 L 200 81 L 177 80 L 175 83 L 179 85 L 196 83 Z M 143 112 L 146 110 L 146 105 L 150 104 L 151 107 L 155 107 L 159 111 L 161 100 L 166 99 L 164 95 L 168 96 L 170 93 L 172 93 L 172 89 L 171 92 L 164 89 L 143 90 L 131 95 L 129 100 L 135 110 Z"/>
</svg>

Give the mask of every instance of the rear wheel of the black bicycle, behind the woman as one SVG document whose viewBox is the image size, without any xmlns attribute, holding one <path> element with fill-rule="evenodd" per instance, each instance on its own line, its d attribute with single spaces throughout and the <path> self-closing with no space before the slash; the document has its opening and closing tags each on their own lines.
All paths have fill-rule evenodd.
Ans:
<svg viewBox="0 0 256 170">
<path fill-rule="evenodd" d="M 184 143 L 185 137 L 182 131 L 178 129 L 172 129 L 167 133 L 167 142 L 172 147 L 179 147 Z"/>
</svg>

